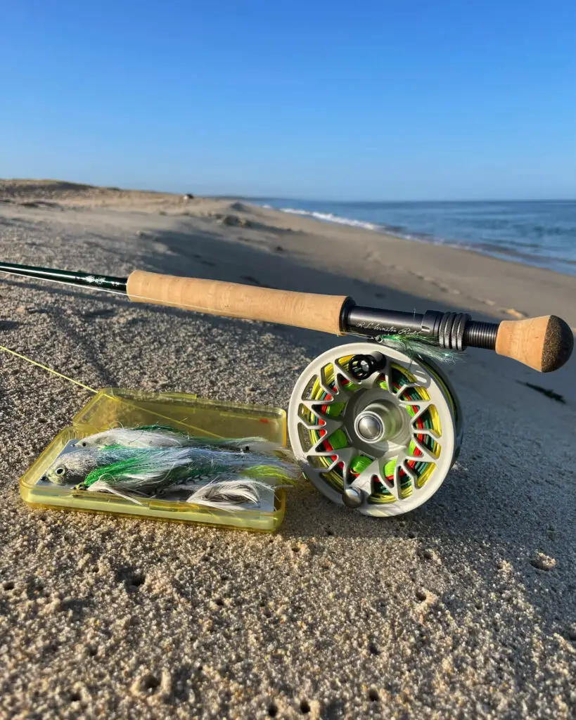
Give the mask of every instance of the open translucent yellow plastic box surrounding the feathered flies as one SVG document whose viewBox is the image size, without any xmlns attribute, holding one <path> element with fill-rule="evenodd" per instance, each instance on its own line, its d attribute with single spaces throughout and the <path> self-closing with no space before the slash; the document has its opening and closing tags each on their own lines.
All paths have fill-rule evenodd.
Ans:
<svg viewBox="0 0 576 720">
<path fill-rule="evenodd" d="M 43 479 L 50 464 L 70 441 L 109 428 L 171 426 L 190 436 L 240 438 L 259 436 L 286 446 L 286 413 L 281 408 L 238 405 L 184 393 L 153 394 L 119 388 L 100 390 L 20 478 L 20 495 L 34 507 L 85 510 L 120 516 L 155 518 L 238 530 L 271 532 L 284 518 L 285 492 L 271 487 L 260 507 L 220 510 L 181 500 L 138 498 L 136 504 L 106 492 L 85 492 Z"/>
</svg>

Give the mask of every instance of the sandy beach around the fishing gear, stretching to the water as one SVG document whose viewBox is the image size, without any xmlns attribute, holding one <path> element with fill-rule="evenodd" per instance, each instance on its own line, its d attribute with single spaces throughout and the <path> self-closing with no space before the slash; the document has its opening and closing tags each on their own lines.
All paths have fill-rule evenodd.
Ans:
<svg viewBox="0 0 576 720">
<path fill-rule="evenodd" d="M 0 181 L 0 257 L 576 328 L 575 277 L 244 201 Z M 0 297 L 2 345 L 91 387 L 287 408 L 348 341 L 12 276 Z M 462 454 L 426 505 L 365 518 L 302 482 L 272 536 L 30 510 L 18 478 L 91 396 L 0 362 L 3 718 L 574 717 L 575 359 L 469 351 L 446 371 Z"/>
</svg>

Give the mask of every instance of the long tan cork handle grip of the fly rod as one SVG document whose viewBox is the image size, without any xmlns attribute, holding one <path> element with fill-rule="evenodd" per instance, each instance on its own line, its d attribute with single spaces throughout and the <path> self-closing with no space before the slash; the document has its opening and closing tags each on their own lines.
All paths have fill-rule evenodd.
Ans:
<svg viewBox="0 0 576 720">
<path fill-rule="evenodd" d="M 128 276 L 126 288 L 132 302 L 152 302 L 207 315 L 264 320 L 343 335 L 340 315 L 346 296 L 288 292 L 143 270 Z"/>
</svg>

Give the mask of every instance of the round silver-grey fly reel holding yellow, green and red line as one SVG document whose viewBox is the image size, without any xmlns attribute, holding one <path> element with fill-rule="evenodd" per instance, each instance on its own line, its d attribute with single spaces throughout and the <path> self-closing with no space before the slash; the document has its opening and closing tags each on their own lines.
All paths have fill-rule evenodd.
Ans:
<svg viewBox="0 0 576 720">
<path fill-rule="evenodd" d="M 444 482 L 460 451 L 462 411 L 433 362 L 353 343 L 307 366 L 292 392 L 288 432 L 323 495 L 364 515 L 394 516 Z"/>
</svg>

